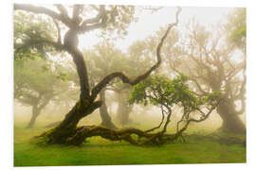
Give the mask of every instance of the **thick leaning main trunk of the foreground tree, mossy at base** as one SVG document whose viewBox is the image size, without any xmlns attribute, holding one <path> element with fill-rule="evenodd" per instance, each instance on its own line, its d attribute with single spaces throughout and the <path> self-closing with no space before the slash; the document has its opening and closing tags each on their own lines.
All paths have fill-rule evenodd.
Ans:
<svg viewBox="0 0 256 170">
<path fill-rule="evenodd" d="M 79 121 L 101 107 L 101 101 L 91 98 L 87 68 L 78 49 L 78 31 L 70 28 L 64 36 L 64 49 L 72 56 L 80 79 L 80 101 L 64 117 L 62 123 L 51 129 L 47 134 L 47 142 L 52 144 L 67 144 L 69 138 L 76 134 Z"/>
</svg>

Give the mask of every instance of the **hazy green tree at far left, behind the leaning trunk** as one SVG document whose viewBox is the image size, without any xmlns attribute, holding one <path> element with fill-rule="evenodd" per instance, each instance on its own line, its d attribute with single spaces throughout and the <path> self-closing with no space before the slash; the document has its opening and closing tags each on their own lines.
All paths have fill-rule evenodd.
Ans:
<svg viewBox="0 0 256 170">
<path fill-rule="evenodd" d="M 14 98 L 32 107 L 32 116 L 27 127 L 33 127 L 46 105 L 68 89 L 64 75 L 56 70 L 53 72 L 49 67 L 43 59 L 14 61 Z"/>
</svg>

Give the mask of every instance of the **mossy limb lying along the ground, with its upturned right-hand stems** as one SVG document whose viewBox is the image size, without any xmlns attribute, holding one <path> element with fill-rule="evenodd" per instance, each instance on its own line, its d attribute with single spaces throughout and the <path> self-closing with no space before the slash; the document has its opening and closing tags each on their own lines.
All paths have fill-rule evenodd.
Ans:
<svg viewBox="0 0 256 170">
<path fill-rule="evenodd" d="M 218 103 L 215 106 L 212 106 L 211 109 L 204 114 L 200 119 L 189 119 L 186 121 L 185 125 L 177 129 L 174 134 L 166 134 L 167 126 L 171 121 L 172 110 L 168 111 L 167 120 L 164 124 L 164 127 L 161 131 L 152 133 L 154 130 L 140 130 L 137 128 L 123 128 L 123 129 L 112 129 L 109 127 L 103 126 L 83 126 L 83 127 L 62 127 L 59 125 L 46 133 L 37 137 L 37 144 L 71 144 L 71 145 L 80 145 L 87 138 L 94 136 L 101 136 L 110 141 L 126 141 L 130 144 L 135 145 L 161 145 L 168 142 L 173 142 L 177 138 L 182 138 L 182 133 L 189 127 L 192 122 L 202 122 L 206 120 L 212 110 L 217 107 Z M 162 124 L 162 121 L 160 125 Z M 158 126 L 160 127 L 160 126 Z M 183 139 L 183 138 L 182 138 Z M 183 139 L 184 140 L 184 139 Z"/>
</svg>

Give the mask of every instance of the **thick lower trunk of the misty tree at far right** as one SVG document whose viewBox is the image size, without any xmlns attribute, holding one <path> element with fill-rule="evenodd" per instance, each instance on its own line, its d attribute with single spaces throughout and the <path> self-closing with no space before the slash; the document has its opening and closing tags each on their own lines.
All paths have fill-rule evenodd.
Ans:
<svg viewBox="0 0 256 170">
<path fill-rule="evenodd" d="M 222 131 L 239 134 L 246 133 L 246 126 L 239 118 L 238 114 L 236 114 L 234 106 L 231 105 L 229 102 L 227 102 L 226 100 L 221 102 L 219 107 L 217 108 L 217 112 L 223 120 L 221 127 Z"/>
</svg>

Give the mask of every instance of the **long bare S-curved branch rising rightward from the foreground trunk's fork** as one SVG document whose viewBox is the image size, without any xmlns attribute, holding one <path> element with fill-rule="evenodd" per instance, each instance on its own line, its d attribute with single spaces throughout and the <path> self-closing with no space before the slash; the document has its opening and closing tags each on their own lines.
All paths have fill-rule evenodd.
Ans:
<svg viewBox="0 0 256 170">
<path fill-rule="evenodd" d="M 101 89 L 104 88 L 112 79 L 119 77 L 123 83 L 128 83 L 131 84 L 132 86 L 136 85 L 137 83 L 139 83 L 140 81 L 142 81 L 143 79 L 145 79 L 146 77 L 148 77 L 153 71 L 155 71 L 156 68 L 159 67 L 162 59 L 161 59 L 161 47 L 163 45 L 163 42 L 165 41 L 168 33 L 170 32 L 171 28 L 173 26 L 176 26 L 178 24 L 178 15 L 181 11 L 181 8 L 178 8 L 176 11 L 176 22 L 169 25 L 165 34 L 163 35 L 163 37 L 161 38 L 160 42 L 157 45 L 156 48 L 156 57 L 157 57 L 157 62 L 155 63 L 155 65 L 153 65 L 147 72 L 145 72 L 143 75 L 137 76 L 134 80 L 131 80 L 128 76 L 125 76 L 123 73 L 120 72 L 115 72 L 112 73 L 108 76 L 105 76 L 100 83 L 98 83 L 92 90 L 91 93 L 91 97 L 92 99 L 95 99 L 96 96 L 98 95 L 98 93 L 101 92 Z"/>
</svg>

